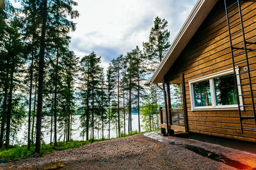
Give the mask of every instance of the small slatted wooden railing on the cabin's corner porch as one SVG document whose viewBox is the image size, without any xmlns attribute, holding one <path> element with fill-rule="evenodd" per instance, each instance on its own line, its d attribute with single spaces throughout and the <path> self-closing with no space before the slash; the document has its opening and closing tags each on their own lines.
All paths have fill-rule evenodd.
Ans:
<svg viewBox="0 0 256 170">
<path fill-rule="evenodd" d="M 166 125 L 166 110 L 159 108 L 160 111 L 160 123 Z M 170 109 L 172 114 L 172 125 L 185 126 L 184 122 L 184 109 L 183 108 L 172 108 Z M 170 115 L 168 114 L 168 122 L 170 125 Z"/>
</svg>

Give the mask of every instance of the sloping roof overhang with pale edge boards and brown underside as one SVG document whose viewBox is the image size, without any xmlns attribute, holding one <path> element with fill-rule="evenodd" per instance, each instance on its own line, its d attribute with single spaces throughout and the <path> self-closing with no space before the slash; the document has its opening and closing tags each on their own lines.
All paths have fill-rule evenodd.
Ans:
<svg viewBox="0 0 256 170">
<path fill-rule="evenodd" d="M 170 46 L 170 49 L 166 53 L 164 59 L 153 74 L 150 80 L 152 83 L 164 82 L 164 75 L 168 72 L 170 67 L 172 67 L 175 60 L 184 50 L 189 40 L 193 37 L 202 22 L 204 22 L 205 18 L 210 13 L 217 1 L 218 0 L 197 1 L 186 22 L 182 25 L 182 28 Z"/>
</svg>

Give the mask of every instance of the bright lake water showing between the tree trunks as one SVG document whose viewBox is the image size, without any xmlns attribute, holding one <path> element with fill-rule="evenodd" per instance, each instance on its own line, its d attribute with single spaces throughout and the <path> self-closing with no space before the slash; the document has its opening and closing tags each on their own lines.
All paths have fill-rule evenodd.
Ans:
<svg viewBox="0 0 256 170">
<path fill-rule="evenodd" d="M 82 128 L 80 127 L 80 120 L 79 120 L 80 116 L 76 115 L 74 117 L 76 117 L 76 118 L 75 118 L 75 122 L 72 123 L 72 139 L 73 140 L 83 140 L 83 137 L 80 136 L 80 133 L 82 131 Z M 47 117 L 47 119 L 50 120 L 51 117 Z M 127 133 L 128 132 L 128 118 L 127 119 L 125 118 L 125 120 L 126 120 L 125 121 L 125 132 Z M 140 124 L 141 124 L 141 132 L 145 131 L 145 129 L 143 129 L 143 123 L 141 120 L 140 120 Z M 28 130 L 26 128 L 27 125 L 28 125 L 27 123 L 24 123 L 24 125 L 22 125 L 20 131 L 18 132 L 17 141 L 19 141 L 19 143 L 26 144 L 27 139 L 25 138 L 25 136 L 27 136 L 27 133 L 28 133 Z M 134 114 L 134 115 L 132 115 L 132 131 L 139 131 L 138 127 L 139 127 L 138 126 L 138 115 Z M 50 127 L 48 129 L 44 129 L 42 127 L 42 132 L 44 133 L 44 136 L 43 136 L 44 143 L 50 143 L 51 136 L 49 134 L 49 129 L 50 129 Z M 114 129 L 114 125 L 111 125 L 110 129 L 111 129 L 110 130 L 110 138 L 116 138 L 116 129 Z M 124 132 L 124 127 L 122 127 L 121 131 Z M 89 131 L 89 135 L 90 135 L 90 131 Z M 52 136 L 53 136 L 53 133 L 52 133 Z M 61 134 L 57 134 L 58 139 L 60 136 L 61 136 Z M 94 138 L 98 139 L 98 131 L 97 130 L 94 131 Z M 101 128 L 99 129 L 99 138 L 102 138 L 102 129 Z M 104 138 L 108 138 L 108 124 L 104 125 Z M 17 141 L 13 141 L 12 144 L 17 143 Z M 63 141 L 63 137 L 60 139 L 60 141 Z"/>
</svg>

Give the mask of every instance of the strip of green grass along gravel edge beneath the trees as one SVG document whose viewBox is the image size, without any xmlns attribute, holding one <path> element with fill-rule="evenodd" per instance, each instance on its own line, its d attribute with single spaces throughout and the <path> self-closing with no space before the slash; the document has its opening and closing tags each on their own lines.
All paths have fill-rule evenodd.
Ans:
<svg viewBox="0 0 256 170">
<path fill-rule="evenodd" d="M 138 131 L 131 131 L 129 134 L 120 134 L 119 138 L 123 138 L 125 136 L 132 136 L 134 134 L 139 134 L 140 132 Z M 112 138 L 115 139 L 115 138 Z M 104 139 L 108 140 L 108 139 Z M 58 142 L 57 146 L 52 145 L 41 145 L 41 155 L 44 156 L 48 153 L 56 152 L 59 150 L 67 150 L 69 148 L 77 148 L 79 146 L 87 145 L 90 143 L 95 143 L 98 141 L 102 141 L 102 139 L 94 139 L 88 140 L 88 141 L 69 141 L 68 143 L 66 142 Z M 3 162 L 8 162 L 13 159 L 17 158 L 26 158 L 32 155 L 35 152 L 35 147 L 31 146 L 30 150 L 28 150 L 27 145 L 24 146 L 10 146 L 8 150 L 6 149 L 0 149 L 0 163 Z"/>
</svg>

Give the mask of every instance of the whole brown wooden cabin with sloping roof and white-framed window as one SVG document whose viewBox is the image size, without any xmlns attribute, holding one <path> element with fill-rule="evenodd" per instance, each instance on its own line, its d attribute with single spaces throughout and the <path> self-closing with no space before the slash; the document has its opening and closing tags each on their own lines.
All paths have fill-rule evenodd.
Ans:
<svg viewBox="0 0 256 170">
<path fill-rule="evenodd" d="M 256 1 L 198 0 L 151 81 L 166 87 L 162 133 L 256 142 Z M 170 83 L 182 85 L 182 108 Z"/>
</svg>

